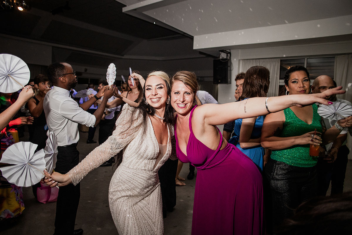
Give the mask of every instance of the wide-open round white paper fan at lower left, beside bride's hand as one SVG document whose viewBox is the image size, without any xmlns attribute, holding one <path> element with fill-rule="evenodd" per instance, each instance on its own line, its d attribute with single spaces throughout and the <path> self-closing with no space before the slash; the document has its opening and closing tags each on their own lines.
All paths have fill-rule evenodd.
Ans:
<svg viewBox="0 0 352 235">
<path fill-rule="evenodd" d="M 2 175 L 11 184 L 28 187 L 43 178 L 45 169 L 44 149 L 34 153 L 37 144 L 19 142 L 8 147 L 2 154 L 1 163 L 11 166 L 1 167 Z"/>
</svg>

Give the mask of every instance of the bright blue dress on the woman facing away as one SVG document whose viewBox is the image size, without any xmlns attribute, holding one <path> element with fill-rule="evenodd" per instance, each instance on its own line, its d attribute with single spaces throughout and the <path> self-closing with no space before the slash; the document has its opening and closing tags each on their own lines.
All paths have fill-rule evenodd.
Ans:
<svg viewBox="0 0 352 235">
<path fill-rule="evenodd" d="M 253 131 L 251 135 L 251 139 L 260 138 L 262 135 L 262 126 L 264 122 L 264 116 L 259 116 L 256 119 L 256 122 L 253 126 Z M 235 120 L 235 127 L 233 129 L 234 136 L 228 141 L 229 143 L 235 145 L 242 153 L 246 154 L 252 161 L 257 165 L 260 171 L 263 171 L 263 156 L 265 154 L 265 150 L 262 146 L 254 147 L 254 148 L 246 148 L 243 149 L 240 147 L 239 137 L 240 130 L 242 125 L 242 118 Z"/>
</svg>

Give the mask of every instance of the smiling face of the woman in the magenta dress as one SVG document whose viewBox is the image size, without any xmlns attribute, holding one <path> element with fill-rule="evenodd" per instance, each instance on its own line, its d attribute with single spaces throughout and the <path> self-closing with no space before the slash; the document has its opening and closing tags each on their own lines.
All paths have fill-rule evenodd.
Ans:
<svg viewBox="0 0 352 235">
<path fill-rule="evenodd" d="M 193 107 L 194 92 L 182 81 L 175 81 L 171 87 L 171 105 L 178 115 L 187 115 Z"/>
</svg>

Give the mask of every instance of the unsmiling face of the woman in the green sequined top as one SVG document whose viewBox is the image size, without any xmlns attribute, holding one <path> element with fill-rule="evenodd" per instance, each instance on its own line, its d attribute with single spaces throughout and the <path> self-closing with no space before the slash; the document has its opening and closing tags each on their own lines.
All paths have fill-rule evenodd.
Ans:
<svg viewBox="0 0 352 235">
<path fill-rule="evenodd" d="M 285 87 L 290 92 L 290 95 L 309 94 L 310 81 L 306 72 L 296 71 L 291 73 L 288 85 L 285 85 Z"/>
</svg>

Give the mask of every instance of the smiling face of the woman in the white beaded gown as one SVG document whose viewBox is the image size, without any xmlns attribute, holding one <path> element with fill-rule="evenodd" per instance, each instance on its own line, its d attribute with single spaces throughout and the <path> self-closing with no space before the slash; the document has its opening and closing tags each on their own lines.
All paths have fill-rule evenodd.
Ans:
<svg viewBox="0 0 352 235">
<path fill-rule="evenodd" d="M 165 108 L 168 90 L 165 81 L 156 75 L 152 75 L 145 81 L 145 99 L 156 110 Z"/>
</svg>

